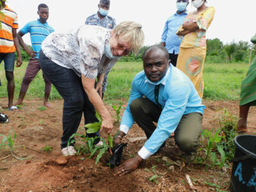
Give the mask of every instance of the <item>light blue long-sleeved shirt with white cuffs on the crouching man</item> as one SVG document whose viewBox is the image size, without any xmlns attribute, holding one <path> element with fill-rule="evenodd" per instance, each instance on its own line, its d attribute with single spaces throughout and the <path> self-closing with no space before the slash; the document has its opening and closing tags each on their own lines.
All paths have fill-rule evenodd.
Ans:
<svg viewBox="0 0 256 192">
<path fill-rule="evenodd" d="M 163 78 L 165 79 L 159 86 L 158 97 L 163 111 L 157 122 L 156 130 L 138 152 L 143 159 L 147 159 L 157 152 L 163 142 L 175 131 L 183 115 L 195 112 L 204 114 L 205 106 L 202 105 L 202 100 L 188 76 L 170 65 Z M 134 123 L 129 108 L 132 100 L 145 96 L 157 105 L 154 89 L 155 85 L 148 83 L 144 71 L 134 77 L 127 108 L 120 124 L 120 131 L 127 134 Z"/>
</svg>

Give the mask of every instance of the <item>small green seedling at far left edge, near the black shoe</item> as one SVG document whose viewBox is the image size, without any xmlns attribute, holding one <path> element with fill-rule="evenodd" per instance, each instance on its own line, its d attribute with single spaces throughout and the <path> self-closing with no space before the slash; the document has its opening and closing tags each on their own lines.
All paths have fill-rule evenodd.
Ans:
<svg viewBox="0 0 256 192">
<path fill-rule="evenodd" d="M 13 137 L 11 136 L 11 133 L 13 132 Z M 14 154 L 14 140 L 16 139 L 16 133 L 14 131 L 10 131 L 7 136 L 4 136 L 3 134 L 0 134 L 0 136 L 3 138 L 3 140 L 0 143 L 0 149 L 6 149 L 9 150 L 15 159 L 19 160 L 26 160 L 28 158 L 20 158 L 15 156 Z"/>
</svg>

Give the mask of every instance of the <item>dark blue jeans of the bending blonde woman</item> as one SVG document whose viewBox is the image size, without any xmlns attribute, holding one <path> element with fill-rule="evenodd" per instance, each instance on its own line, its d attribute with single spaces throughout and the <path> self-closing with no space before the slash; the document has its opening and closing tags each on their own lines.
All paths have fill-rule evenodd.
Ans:
<svg viewBox="0 0 256 192">
<path fill-rule="evenodd" d="M 38 61 L 44 75 L 51 81 L 64 99 L 61 148 L 65 148 L 67 147 L 70 136 L 77 131 L 83 113 L 84 124 L 98 121 L 95 116 L 95 109 L 88 99 L 87 94 L 84 92 L 81 77 L 77 76 L 74 70 L 61 67 L 54 63 L 49 60 L 42 51 L 40 51 Z M 89 137 L 100 136 L 99 132 L 87 135 Z M 72 138 L 72 140 L 74 140 L 74 138 Z M 98 141 L 99 139 L 95 140 L 94 143 Z"/>
</svg>

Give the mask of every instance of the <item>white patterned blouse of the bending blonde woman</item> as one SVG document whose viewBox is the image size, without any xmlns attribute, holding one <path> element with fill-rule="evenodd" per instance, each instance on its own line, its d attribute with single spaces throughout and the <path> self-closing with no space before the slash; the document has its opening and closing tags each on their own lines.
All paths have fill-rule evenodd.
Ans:
<svg viewBox="0 0 256 192">
<path fill-rule="evenodd" d="M 71 68 L 77 76 L 83 74 L 89 79 L 96 79 L 97 74 L 104 74 L 115 64 L 115 60 L 110 60 L 108 65 L 103 65 L 110 33 L 109 29 L 88 25 L 68 33 L 53 32 L 42 43 L 42 51 L 49 60 Z"/>
</svg>

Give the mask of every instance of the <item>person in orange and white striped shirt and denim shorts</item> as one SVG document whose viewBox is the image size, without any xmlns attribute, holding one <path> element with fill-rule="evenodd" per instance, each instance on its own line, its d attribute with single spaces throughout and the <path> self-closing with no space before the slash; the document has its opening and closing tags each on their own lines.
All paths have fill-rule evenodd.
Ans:
<svg viewBox="0 0 256 192">
<path fill-rule="evenodd" d="M 15 51 L 17 51 L 18 58 L 16 67 L 20 67 L 22 64 L 22 58 L 19 48 L 19 40 L 17 38 L 18 19 L 17 14 L 13 12 L 6 4 L 5 0 L 1 0 L 1 12 L 3 17 L 0 17 L 1 29 L 0 29 L 0 63 L 4 60 L 4 70 L 7 79 L 7 92 L 8 92 L 8 108 L 10 110 L 17 109 L 13 106 L 14 95 L 14 63 L 15 63 Z"/>
</svg>

